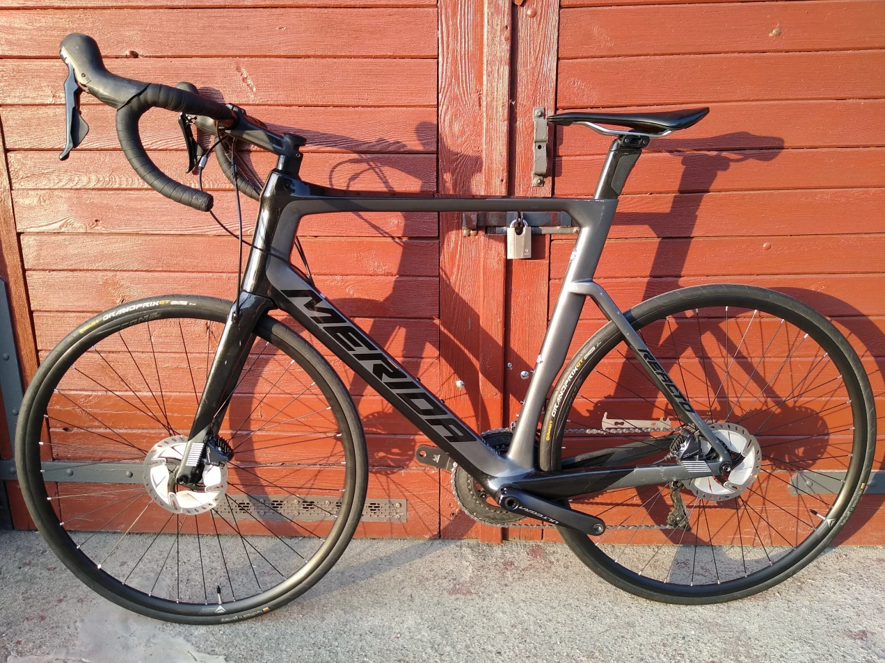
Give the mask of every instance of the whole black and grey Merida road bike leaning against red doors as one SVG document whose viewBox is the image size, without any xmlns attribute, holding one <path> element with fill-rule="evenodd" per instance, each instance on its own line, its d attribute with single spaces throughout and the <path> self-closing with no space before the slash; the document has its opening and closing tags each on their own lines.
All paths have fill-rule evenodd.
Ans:
<svg viewBox="0 0 885 663">
<path fill-rule="evenodd" d="M 332 568 L 364 515 L 369 471 L 360 408 L 317 347 L 434 443 L 416 459 L 450 470 L 467 514 L 555 528 L 596 574 L 644 598 L 702 604 L 763 591 L 832 543 L 857 506 L 875 408 L 834 324 L 736 284 L 621 311 L 593 278 L 643 149 L 707 109 L 551 116 L 612 136 L 590 199 L 383 197 L 305 182 L 303 138 L 186 83 L 116 76 L 89 36 L 65 37 L 61 57 L 62 158 L 88 131 L 85 90 L 117 109 L 120 145 L 158 193 L 212 210 L 202 183 L 169 178 L 145 152 L 139 118 L 151 108 L 180 113 L 191 171 L 214 151 L 235 190 L 259 202 L 250 241 L 241 217 L 250 250 L 235 301 L 127 301 L 61 339 L 27 389 L 15 444 L 27 507 L 105 598 L 169 621 L 236 621 L 285 605 Z M 263 184 L 238 142 L 278 157 Z M 511 428 L 471 430 L 319 291 L 301 219 L 377 211 L 511 213 L 516 234 L 531 232 L 527 214 L 572 220 L 573 253 Z M 293 246 L 304 269 L 290 263 Z M 604 319 L 575 338 L 588 297 Z"/>
</svg>

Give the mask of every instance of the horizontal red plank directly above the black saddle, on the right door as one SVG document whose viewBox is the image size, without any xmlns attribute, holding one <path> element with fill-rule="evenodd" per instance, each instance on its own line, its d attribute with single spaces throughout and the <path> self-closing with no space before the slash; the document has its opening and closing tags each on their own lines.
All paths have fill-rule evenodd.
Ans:
<svg viewBox="0 0 885 663">
<path fill-rule="evenodd" d="M 885 51 L 603 57 L 559 63 L 560 108 L 885 96 Z M 631 81 L 624 85 L 624 81 Z"/>
</svg>

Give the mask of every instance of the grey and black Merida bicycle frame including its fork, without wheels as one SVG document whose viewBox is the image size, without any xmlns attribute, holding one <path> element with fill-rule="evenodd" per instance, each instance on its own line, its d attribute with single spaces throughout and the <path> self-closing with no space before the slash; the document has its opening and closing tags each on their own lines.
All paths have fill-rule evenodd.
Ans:
<svg viewBox="0 0 885 663">
<path fill-rule="evenodd" d="M 612 150 L 600 176 L 600 187 L 615 175 L 617 147 Z M 614 154 L 614 157 L 612 157 Z M 635 159 L 634 159 L 635 161 Z M 626 179 L 626 175 L 624 176 Z M 621 182 L 621 185 L 623 182 Z M 611 187 L 609 187 L 611 190 Z M 620 187 L 618 187 L 620 192 Z M 261 316 L 282 309 L 342 362 L 366 380 L 381 396 L 414 423 L 450 457 L 492 492 L 512 487 L 544 499 L 563 499 L 588 492 L 624 486 L 665 484 L 719 474 L 720 465 L 731 462 L 725 447 L 696 414 L 666 370 L 654 358 L 639 334 L 623 316 L 602 286 L 593 280 L 596 265 L 618 205 L 611 198 L 421 198 L 373 197 L 372 194 L 340 197 L 323 187 L 304 182 L 279 168 L 271 172 L 260 199 L 253 248 L 242 281 L 237 307 L 232 307 L 219 339 L 212 369 L 206 380 L 189 439 L 202 440 L 219 430 L 237 378 L 255 339 L 253 331 Z M 445 403 L 412 377 L 399 362 L 345 316 L 319 292 L 309 278 L 289 263 L 298 225 L 304 216 L 332 212 L 480 212 L 562 211 L 579 227 L 578 239 L 566 271 L 550 327 L 510 449 L 505 456 L 487 446 Z M 561 472 L 542 472 L 535 462 L 535 438 L 544 402 L 553 380 L 566 361 L 578 317 L 586 297 L 596 302 L 623 333 L 627 346 L 640 360 L 651 380 L 664 393 L 676 414 L 693 426 L 718 453 L 707 469 L 679 465 L 596 467 Z M 189 455 L 185 450 L 185 457 Z M 702 463 L 703 465 L 703 463 Z"/>
</svg>

